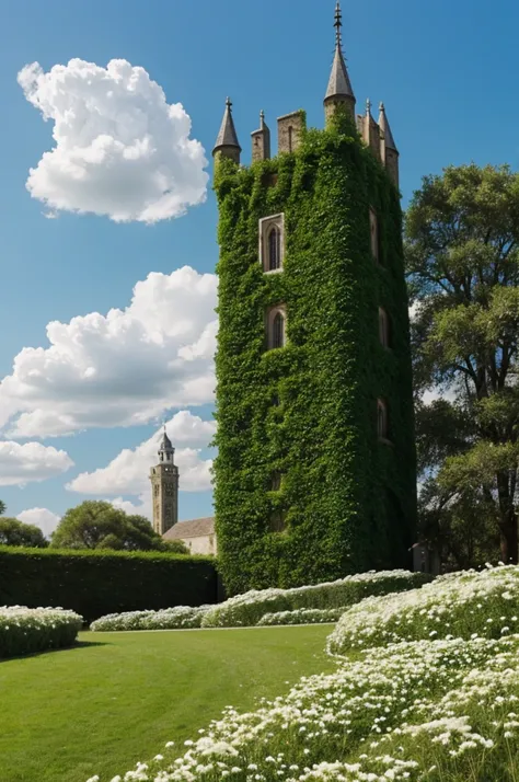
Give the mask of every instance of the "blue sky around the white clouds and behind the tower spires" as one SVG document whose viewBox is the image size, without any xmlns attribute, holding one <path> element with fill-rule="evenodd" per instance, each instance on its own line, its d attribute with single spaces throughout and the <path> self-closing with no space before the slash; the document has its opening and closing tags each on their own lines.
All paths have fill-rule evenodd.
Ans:
<svg viewBox="0 0 519 782">
<path fill-rule="evenodd" d="M 193 123 L 191 137 L 205 148 L 210 173 L 210 151 L 228 94 L 233 100 L 244 150 L 242 162 L 250 159 L 250 134 L 257 127 L 261 108 L 272 129 L 277 116 L 300 107 L 307 110 L 311 125 L 322 126 L 322 99 L 334 49 L 333 12 L 333 0 L 264 0 L 261 4 L 244 0 L 0 3 L 4 118 L 0 125 L 0 378 L 12 375 L 13 360 L 23 348 L 48 348 L 47 323 L 68 324 L 89 313 L 105 317 L 112 308 L 124 310 L 134 286 L 150 273 L 169 276 L 185 265 L 199 274 L 212 273 L 218 252 L 210 183 L 205 203 L 188 207 L 183 217 L 153 225 L 115 222 L 108 216 L 77 215 L 67 209 L 59 210 L 57 219 L 46 219 L 45 205 L 31 197 L 25 182 L 28 170 L 55 146 L 54 123 L 43 122 L 41 112 L 26 100 L 16 82 L 18 72 L 34 61 L 48 72 L 71 58 L 101 68 L 114 58 L 141 66 L 163 89 L 169 104 L 184 106 Z M 518 168 L 517 3 L 373 0 L 343 2 L 343 12 L 344 47 L 357 108 L 364 107 L 367 96 L 376 106 L 380 100 L 385 103 L 401 151 L 404 204 L 424 174 L 439 172 L 449 163 L 473 160 Z M 95 112 L 94 103 L 91 110 Z M 117 176 L 116 170 L 113 176 Z M 206 299 L 200 303 L 204 306 Z M 170 314 L 174 318 L 173 310 Z M 210 312 L 205 317 L 207 322 L 211 320 Z M 125 384 L 131 386 L 131 378 L 141 383 L 142 376 L 155 371 L 153 366 L 136 361 Z M 59 376 L 53 382 L 59 383 Z M 101 398 L 86 400 L 89 388 L 76 389 L 78 403 L 102 407 Z M 92 480 L 88 493 L 67 491 L 65 485 L 80 473 L 105 469 L 123 449 L 130 449 L 127 457 L 131 461 L 131 449 L 155 433 L 163 415 L 172 418 L 177 411 L 188 410 L 197 419 L 210 421 L 210 401 L 206 398 L 201 405 L 192 404 L 196 401 L 187 395 L 169 410 L 155 410 L 149 421 L 142 413 L 141 423 L 131 426 L 117 425 L 120 422 L 111 422 L 109 415 L 104 426 L 99 426 L 94 415 L 94 423 L 66 437 L 49 437 L 45 427 L 42 432 L 33 427 L 27 437 L 9 434 L 19 410 L 4 423 L 0 446 L 2 441 L 42 444 L 43 448 L 66 451 L 73 467 L 64 471 L 65 456 L 50 455 L 50 462 L 58 464 L 54 474 L 54 467 L 48 468 L 48 452 L 39 450 L 32 476 L 53 474 L 47 480 L 27 482 L 23 465 L 10 470 L 9 462 L 0 459 L 0 496 L 8 504 L 9 515 L 31 508 L 60 515 L 83 498 L 108 496 L 106 483 L 109 474 L 115 474 L 117 462 L 112 473 L 104 474 L 99 494 Z M 68 402 L 73 404 L 73 396 Z M 5 402 L 0 398 L 0 417 L 2 404 Z M 38 404 L 36 400 L 35 409 Z M 31 413 L 31 403 L 23 410 Z M 184 418 L 182 425 L 189 429 L 192 423 Z M 195 421 L 194 426 L 200 428 L 201 424 Z M 211 508 L 205 470 L 211 456 L 209 437 L 205 439 L 209 429 L 201 428 L 204 432 L 200 429 L 193 441 L 186 434 L 177 444 L 181 449 L 196 450 L 191 458 L 198 460 L 191 482 L 197 491 L 182 492 L 181 518 L 205 515 Z M 20 460 L 24 452 L 10 446 L 5 459 Z M 141 453 L 141 464 L 143 459 Z M 11 475 L 3 482 L 2 470 Z M 197 470 L 206 478 L 197 481 Z M 130 471 L 126 483 L 120 481 L 122 491 L 109 496 L 139 507 L 142 492 L 131 481 Z M 5 482 L 10 485 L 2 485 Z"/>
</svg>

